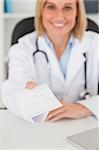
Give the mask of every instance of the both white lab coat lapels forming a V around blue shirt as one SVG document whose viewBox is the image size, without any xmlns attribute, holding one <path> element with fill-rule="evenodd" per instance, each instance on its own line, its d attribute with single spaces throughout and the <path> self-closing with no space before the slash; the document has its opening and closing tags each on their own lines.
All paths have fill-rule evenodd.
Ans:
<svg viewBox="0 0 99 150">
<path fill-rule="evenodd" d="M 45 39 L 43 37 L 39 37 L 38 43 L 39 48 L 47 53 L 47 56 L 50 61 L 49 63 L 51 65 L 52 74 L 54 73 L 55 76 L 59 79 L 59 81 L 61 81 L 63 85 L 69 87 L 69 85 L 72 83 L 72 80 L 75 78 L 80 68 L 83 66 L 85 62 L 84 53 L 87 53 L 88 49 L 85 48 L 84 44 L 81 43 L 78 39 L 75 39 L 75 45 L 70 55 L 65 80 L 63 73 L 60 69 L 58 60 L 56 56 L 53 54 L 53 52 L 50 50 L 48 45 L 46 44 Z"/>
</svg>

